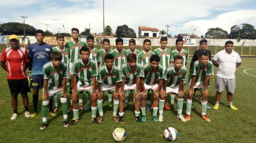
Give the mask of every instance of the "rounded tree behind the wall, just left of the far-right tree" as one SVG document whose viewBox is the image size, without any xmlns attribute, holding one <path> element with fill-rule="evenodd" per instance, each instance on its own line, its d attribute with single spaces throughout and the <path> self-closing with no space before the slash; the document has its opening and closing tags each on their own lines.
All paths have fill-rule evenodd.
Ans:
<svg viewBox="0 0 256 143">
<path fill-rule="evenodd" d="M 220 38 L 228 38 L 228 32 L 221 28 L 210 28 L 205 33 L 206 38 L 220 39 Z"/>
</svg>

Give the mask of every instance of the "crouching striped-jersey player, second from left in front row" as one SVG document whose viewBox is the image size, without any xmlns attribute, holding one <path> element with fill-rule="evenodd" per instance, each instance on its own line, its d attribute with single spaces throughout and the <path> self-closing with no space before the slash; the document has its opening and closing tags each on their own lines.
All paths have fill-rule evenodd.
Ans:
<svg viewBox="0 0 256 143">
<path fill-rule="evenodd" d="M 81 59 L 74 61 L 70 73 L 73 75 L 73 93 L 72 93 L 72 102 L 73 102 L 73 114 L 74 118 L 72 119 L 70 125 L 78 123 L 78 103 L 77 97 L 83 96 L 83 92 L 89 94 L 89 96 L 96 96 L 96 76 L 98 75 L 98 68 L 96 62 L 90 59 L 90 50 L 88 47 L 82 47 L 80 49 Z M 91 98 L 90 98 L 91 99 Z M 93 98 L 92 98 L 93 99 Z M 92 102 L 92 118 L 93 123 L 98 123 L 96 119 L 96 101 Z"/>
</svg>

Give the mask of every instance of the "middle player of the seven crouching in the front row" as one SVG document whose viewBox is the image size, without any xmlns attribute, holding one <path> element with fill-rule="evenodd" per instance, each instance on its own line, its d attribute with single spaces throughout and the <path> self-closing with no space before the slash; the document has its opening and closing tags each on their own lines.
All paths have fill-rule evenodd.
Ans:
<svg viewBox="0 0 256 143">
<path fill-rule="evenodd" d="M 121 66 L 122 82 L 120 88 L 120 101 L 119 101 L 119 121 L 124 120 L 124 101 L 121 97 L 129 94 L 128 90 L 134 94 L 135 106 L 135 120 L 140 120 L 140 64 L 136 63 L 137 57 L 134 53 L 130 53 L 126 57 L 127 63 Z M 128 96 L 128 95 L 127 95 Z"/>
</svg>

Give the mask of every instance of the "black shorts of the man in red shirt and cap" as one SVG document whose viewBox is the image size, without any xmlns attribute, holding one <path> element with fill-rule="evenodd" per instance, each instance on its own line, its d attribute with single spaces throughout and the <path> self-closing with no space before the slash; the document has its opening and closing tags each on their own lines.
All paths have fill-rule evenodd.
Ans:
<svg viewBox="0 0 256 143">
<path fill-rule="evenodd" d="M 7 79 L 11 94 L 25 94 L 30 91 L 28 79 Z"/>
</svg>

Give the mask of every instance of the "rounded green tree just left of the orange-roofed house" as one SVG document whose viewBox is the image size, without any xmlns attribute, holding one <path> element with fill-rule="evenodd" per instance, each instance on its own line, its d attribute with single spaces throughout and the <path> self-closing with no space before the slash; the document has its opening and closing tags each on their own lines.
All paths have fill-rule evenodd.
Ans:
<svg viewBox="0 0 256 143">
<path fill-rule="evenodd" d="M 136 38 L 136 33 L 134 29 L 124 24 L 116 27 L 116 37 Z"/>
</svg>

